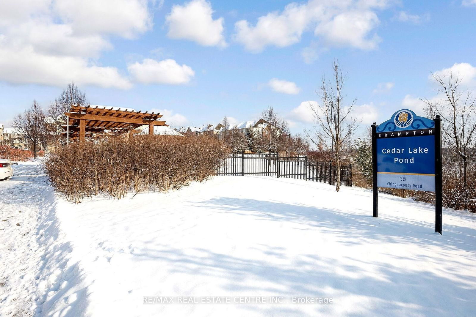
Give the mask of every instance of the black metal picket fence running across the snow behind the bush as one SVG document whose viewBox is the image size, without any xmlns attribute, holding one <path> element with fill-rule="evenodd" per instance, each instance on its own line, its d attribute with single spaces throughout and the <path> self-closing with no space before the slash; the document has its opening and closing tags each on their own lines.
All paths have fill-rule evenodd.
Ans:
<svg viewBox="0 0 476 317">
<path fill-rule="evenodd" d="M 307 161 L 307 156 L 276 153 L 232 153 L 218 167 L 217 175 L 258 175 L 336 184 L 337 167 L 330 162 Z M 352 165 L 340 166 L 340 184 L 352 186 Z"/>
</svg>

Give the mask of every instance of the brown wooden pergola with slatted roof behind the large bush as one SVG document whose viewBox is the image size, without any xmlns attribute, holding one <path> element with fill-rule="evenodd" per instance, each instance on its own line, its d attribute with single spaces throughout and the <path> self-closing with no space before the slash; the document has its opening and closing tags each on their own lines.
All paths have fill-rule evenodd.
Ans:
<svg viewBox="0 0 476 317">
<path fill-rule="evenodd" d="M 154 133 L 154 125 L 166 125 L 158 120 L 160 113 L 148 113 L 108 106 L 74 106 L 65 113 L 68 124 L 63 126 L 70 140 L 79 138 L 83 142 L 87 136 L 105 133 L 139 133 L 142 125 L 149 125 L 149 134 Z"/>
</svg>

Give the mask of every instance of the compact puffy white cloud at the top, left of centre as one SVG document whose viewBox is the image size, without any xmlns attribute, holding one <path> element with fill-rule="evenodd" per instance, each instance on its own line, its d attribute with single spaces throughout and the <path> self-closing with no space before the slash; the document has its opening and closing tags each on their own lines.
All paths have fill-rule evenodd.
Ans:
<svg viewBox="0 0 476 317">
<path fill-rule="evenodd" d="M 212 18 L 213 10 L 206 0 L 192 0 L 185 5 L 174 5 L 167 16 L 169 38 L 195 41 L 203 46 L 226 47 L 222 17 Z"/>
</svg>

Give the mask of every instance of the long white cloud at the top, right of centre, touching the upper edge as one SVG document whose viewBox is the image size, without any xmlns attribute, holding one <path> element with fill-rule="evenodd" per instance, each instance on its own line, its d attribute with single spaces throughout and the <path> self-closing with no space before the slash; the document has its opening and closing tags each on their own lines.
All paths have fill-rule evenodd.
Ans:
<svg viewBox="0 0 476 317">
<path fill-rule="evenodd" d="M 290 3 L 283 11 L 269 12 L 256 25 L 247 20 L 235 23 L 234 39 L 248 51 L 261 52 L 268 46 L 286 47 L 301 40 L 304 32 L 314 29 L 329 45 L 361 49 L 377 47 L 380 38 L 371 34 L 379 24 L 374 10 L 384 9 L 387 0 L 309 0 Z"/>
</svg>

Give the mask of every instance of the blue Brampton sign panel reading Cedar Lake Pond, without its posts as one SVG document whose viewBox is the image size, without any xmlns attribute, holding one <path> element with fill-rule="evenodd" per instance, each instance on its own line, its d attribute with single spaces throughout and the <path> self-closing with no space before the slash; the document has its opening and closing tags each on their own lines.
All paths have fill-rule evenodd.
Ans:
<svg viewBox="0 0 476 317">
<path fill-rule="evenodd" d="M 377 186 L 435 192 L 435 122 L 398 110 L 377 126 Z"/>
</svg>

